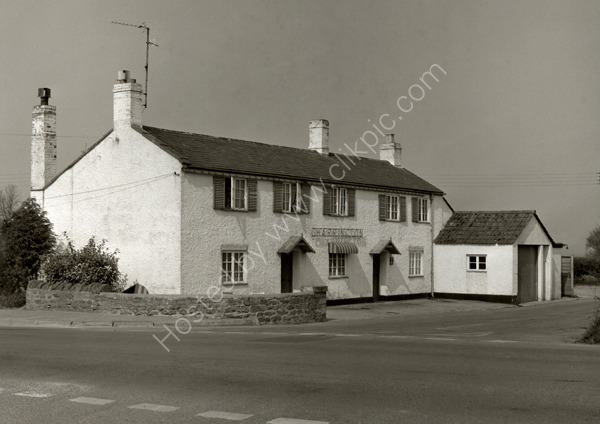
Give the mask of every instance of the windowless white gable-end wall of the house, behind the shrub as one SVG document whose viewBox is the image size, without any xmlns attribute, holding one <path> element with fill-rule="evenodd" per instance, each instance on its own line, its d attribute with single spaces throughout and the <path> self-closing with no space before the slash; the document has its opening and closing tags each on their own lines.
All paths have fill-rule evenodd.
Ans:
<svg viewBox="0 0 600 424">
<path fill-rule="evenodd" d="M 131 128 L 112 132 L 67 169 L 42 200 L 57 234 L 76 247 L 91 236 L 119 250 L 129 283 L 180 292 L 180 163 Z"/>
</svg>

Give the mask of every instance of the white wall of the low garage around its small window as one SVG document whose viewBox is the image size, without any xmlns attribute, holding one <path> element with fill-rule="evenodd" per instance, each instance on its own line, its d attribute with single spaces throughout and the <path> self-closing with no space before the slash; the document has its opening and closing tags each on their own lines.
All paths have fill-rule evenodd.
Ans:
<svg viewBox="0 0 600 424">
<path fill-rule="evenodd" d="M 487 255 L 487 271 L 468 271 L 467 255 Z M 434 245 L 437 293 L 516 296 L 512 245 Z"/>
</svg>

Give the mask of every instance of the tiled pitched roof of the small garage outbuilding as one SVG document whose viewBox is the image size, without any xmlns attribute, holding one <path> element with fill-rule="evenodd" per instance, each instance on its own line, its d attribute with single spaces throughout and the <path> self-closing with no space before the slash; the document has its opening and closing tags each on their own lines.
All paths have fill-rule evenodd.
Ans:
<svg viewBox="0 0 600 424">
<path fill-rule="evenodd" d="M 455 212 L 436 237 L 436 244 L 514 244 L 535 211 Z"/>
</svg>

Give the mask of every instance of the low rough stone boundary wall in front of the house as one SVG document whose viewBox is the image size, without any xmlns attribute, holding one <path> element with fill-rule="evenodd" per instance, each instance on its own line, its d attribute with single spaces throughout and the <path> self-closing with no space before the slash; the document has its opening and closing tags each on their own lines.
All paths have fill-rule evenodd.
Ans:
<svg viewBox="0 0 600 424">
<path fill-rule="evenodd" d="M 326 319 L 327 287 L 321 286 L 306 287 L 300 293 L 228 295 L 216 292 L 212 297 L 93 293 L 39 286 L 44 287 L 37 281 L 29 283 L 26 309 L 193 317 L 195 320 L 256 317 L 259 324 L 309 323 Z"/>
</svg>

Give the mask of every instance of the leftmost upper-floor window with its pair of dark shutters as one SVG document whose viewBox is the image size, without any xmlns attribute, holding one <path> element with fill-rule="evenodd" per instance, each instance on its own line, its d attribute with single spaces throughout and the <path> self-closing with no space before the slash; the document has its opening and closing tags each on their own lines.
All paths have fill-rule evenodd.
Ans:
<svg viewBox="0 0 600 424">
<path fill-rule="evenodd" d="M 257 181 L 251 178 L 213 176 L 214 209 L 256 211 Z"/>
</svg>

